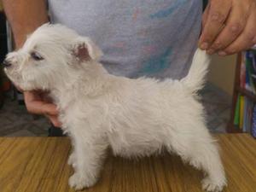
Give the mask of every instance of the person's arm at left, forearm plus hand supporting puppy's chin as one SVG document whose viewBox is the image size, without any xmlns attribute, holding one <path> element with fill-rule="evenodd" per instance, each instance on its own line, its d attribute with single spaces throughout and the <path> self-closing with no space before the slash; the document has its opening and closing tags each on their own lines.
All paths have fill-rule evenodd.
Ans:
<svg viewBox="0 0 256 192">
<path fill-rule="evenodd" d="M 4 11 L 15 36 L 16 48 L 20 48 L 26 36 L 38 26 L 48 22 L 45 0 L 3 0 Z M 42 93 L 25 91 L 24 100 L 30 113 L 44 114 L 55 126 L 61 126 L 55 105 L 45 102 Z"/>
</svg>

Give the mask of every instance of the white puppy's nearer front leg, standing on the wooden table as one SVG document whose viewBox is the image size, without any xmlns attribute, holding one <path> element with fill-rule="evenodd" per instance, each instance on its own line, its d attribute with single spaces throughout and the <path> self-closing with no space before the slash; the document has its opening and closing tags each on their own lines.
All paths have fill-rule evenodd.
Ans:
<svg viewBox="0 0 256 192">
<path fill-rule="evenodd" d="M 94 185 L 99 177 L 102 162 L 108 145 L 102 138 L 76 136 L 74 139 L 73 162 L 75 164 L 73 176 L 69 178 L 69 185 L 74 189 L 88 188 Z M 96 140 L 95 140 L 96 139 Z"/>
</svg>

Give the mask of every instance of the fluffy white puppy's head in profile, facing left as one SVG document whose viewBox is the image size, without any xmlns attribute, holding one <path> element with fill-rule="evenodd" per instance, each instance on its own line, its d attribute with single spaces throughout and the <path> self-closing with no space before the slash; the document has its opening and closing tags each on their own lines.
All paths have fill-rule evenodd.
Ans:
<svg viewBox="0 0 256 192">
<path fill-rule="evenodd" d="M 90 40 L 61 25 L 44 24 L 23 47 L 3 61 L 4 71 L 22 90 L 50 90 L 100 59 L 102 51 Z"/>
</svg>

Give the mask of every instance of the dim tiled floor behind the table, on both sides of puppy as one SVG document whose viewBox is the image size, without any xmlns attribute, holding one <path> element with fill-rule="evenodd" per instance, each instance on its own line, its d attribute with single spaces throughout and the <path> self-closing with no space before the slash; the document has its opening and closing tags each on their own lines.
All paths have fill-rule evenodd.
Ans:
<svg viewBox="0 0 256 192">
<path fill-rule="evenodd" d="M 201 90 L 202 102 L 207 112 L 207 125 L 210 131 L 224 132 L 230 118 L 231 98 L 223 91 L 207 84 Z M 25 106 L 6 98 L 0 109 L 0 136 L 25 137 L 47 136 L 49 122 L 44 117 L 33 117 L 26 112 Z"/>
</svg>

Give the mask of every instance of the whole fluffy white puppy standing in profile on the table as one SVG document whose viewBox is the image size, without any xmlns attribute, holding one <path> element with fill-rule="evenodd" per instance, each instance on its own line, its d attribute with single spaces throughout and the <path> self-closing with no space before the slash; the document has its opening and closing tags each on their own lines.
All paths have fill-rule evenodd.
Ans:
<svg viewBox="0 0 256 192">
<path fill-rule="evenodd" d="M 195 52 L 189 74 L 180 81 L 115 77 L 98 62 L 101 55 L 90 38 L 45 24 L 3 62 L 21 89 L 47 90 L 57 105 L 73 143 L 69 185 L 94 185 L 108 147 L 124 157 L 166 148 L 206 173 L 203 189 L 221 191 L 224 168 L 196 98 L 209 64 L 205 51 Z"/>
</svg>

